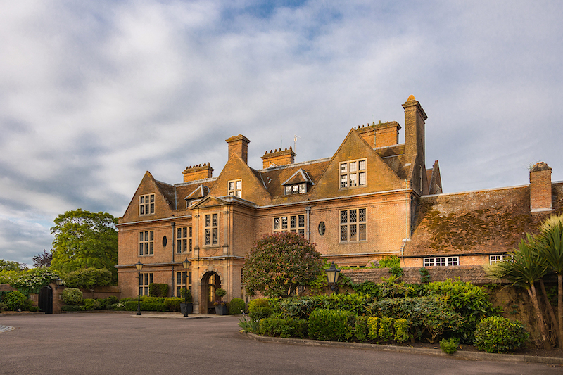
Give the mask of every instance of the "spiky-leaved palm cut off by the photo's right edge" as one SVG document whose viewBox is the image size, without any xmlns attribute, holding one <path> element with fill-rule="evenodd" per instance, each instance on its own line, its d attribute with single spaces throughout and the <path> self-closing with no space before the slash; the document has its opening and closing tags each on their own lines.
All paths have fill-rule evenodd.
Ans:
<svg viewBox="0 0 563 375">
<path fill-rule="evenodd" d="M 552 215 L 543 222 L 536 248 L 547 268 L 557 274 L 557 337 L 563 348 L 563 215 Z"/>
</svg>

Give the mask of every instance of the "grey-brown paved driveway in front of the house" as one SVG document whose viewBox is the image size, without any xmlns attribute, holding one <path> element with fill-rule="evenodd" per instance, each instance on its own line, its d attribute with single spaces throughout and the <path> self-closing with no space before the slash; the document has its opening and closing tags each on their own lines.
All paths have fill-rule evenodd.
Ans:
<svg viewBox="0 0 563 375">
<path fill-rule="evenodd" d="M 0 316 L 0 374 L 563 374 L 547 364 L 252 341 L 236 317 Z"/>
</svg>

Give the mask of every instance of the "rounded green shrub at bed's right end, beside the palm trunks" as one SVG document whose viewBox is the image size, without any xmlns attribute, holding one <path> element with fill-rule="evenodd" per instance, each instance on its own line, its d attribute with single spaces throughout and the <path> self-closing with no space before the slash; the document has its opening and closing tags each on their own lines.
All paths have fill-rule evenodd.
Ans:
<svg viewBox="0 0 563 375">
<path fill-rule="evenodd" d="M 519 321 L 504 317 L 488 317 L 477 324 L 474 345 L 490 353 L 509 352 L 523 347 L 529 333 Z"/>
</svg>

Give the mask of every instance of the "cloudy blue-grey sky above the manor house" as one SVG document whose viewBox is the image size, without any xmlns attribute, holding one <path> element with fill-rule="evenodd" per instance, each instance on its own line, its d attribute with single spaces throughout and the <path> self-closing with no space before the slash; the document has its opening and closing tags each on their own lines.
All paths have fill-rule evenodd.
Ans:
<svg viewBox="0 0 563 375">
<path fill-rule="evenodd" d="M 272 5 L 275 4 L 275 5 Z M 32 264 L 67 210 L 120 217 L 146 170 L 218 175 L 351 127 L 428 115 L 446 193 L 563 179 L 559 1 L 0 0 L 0 259 Z M 560 105 L 560 104 L 559 104 Z M 401 131 L 400 141 L 404 141 Z"/>
</svg>

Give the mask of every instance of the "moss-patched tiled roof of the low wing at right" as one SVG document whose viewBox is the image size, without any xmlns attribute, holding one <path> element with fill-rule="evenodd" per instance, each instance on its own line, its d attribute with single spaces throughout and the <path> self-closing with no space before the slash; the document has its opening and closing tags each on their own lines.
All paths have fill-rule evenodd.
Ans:
<svg viewBox="0 0 563 375">
<path fill-rule="evenodd" d="M 562 212 L 563 183 L 552 183 L 552 192 L 554 213 Z M 543 219 L 530 212 L 528 185 L 422 196 L 404 255 L 507 253 Z"/>
</svg>

